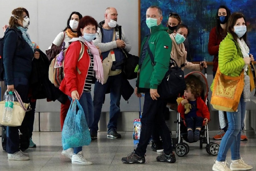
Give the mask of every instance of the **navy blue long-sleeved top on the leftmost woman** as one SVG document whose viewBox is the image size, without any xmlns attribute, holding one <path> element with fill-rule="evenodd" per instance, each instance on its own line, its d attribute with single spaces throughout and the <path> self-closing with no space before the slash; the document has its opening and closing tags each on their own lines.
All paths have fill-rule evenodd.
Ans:
<svg viewBox="0 0 256 171">
<path fill-rule="evenodd" d="M 32 70 L 34 52 L 22 38 L 22 33 L 10 30 L 5 34 L 3 47 L 4 80 L 13 85 L 13 78 L 29 78 Z M 17 41 L 18 40 L 18 41 Z M 17 43 L 18 42 L 18 43 Z"/>
</svg>

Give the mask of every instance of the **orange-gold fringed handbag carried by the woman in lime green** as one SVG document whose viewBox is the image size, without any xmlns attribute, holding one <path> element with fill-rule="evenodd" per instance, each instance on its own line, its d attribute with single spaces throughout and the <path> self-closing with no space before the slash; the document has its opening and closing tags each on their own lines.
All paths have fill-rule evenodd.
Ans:
<svg viewBox="0 0 256 171">
<path fill-rule="evenodd" d="M 211 104 L 214 109 L 236 112 L 244 86 L 243 70 L 238 77 L 226 76 L 218 67 L 214 78 Z"/>
</svg>

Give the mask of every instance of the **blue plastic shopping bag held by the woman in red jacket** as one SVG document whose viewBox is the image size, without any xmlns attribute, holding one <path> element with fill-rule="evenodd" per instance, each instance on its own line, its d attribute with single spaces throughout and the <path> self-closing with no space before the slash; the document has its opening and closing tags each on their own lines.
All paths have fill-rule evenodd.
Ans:
<svg viewBox="0 0 256 171">
<path fill-rule="evenodd" d="M 84 110 L 78 100 L 73 100 L 69 107 L 61 135 L 63 150 L 89 145 L 91 142 Z"/>
</svg>

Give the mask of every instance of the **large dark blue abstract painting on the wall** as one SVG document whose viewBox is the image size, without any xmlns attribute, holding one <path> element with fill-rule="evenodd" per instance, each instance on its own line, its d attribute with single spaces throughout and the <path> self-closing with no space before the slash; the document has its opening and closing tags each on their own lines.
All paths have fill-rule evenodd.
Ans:
<svg viewBox="0 0 256 171">
<path fill-rule="evenodd" d="M 179 14 L 182 23 L 189 27 L 188 61 L 206 60 L 212 62 L 213 56 L 208 54 L 208 39 L 210 30 L 216 26 L 216 13 L 220 5 L 227 6 L 231 13 L 243 13 L 247 24 L 250 53 L 256 59 L 255 0 L 141 0 L 141 41 L 146 34 L 149 34 L 149 29 L 146 25 L 146 10 L 151 5 L 157 5 L 162 9 L 163 25 L 167 24 L 169 13 L 174 12 Z"/>
</svg>

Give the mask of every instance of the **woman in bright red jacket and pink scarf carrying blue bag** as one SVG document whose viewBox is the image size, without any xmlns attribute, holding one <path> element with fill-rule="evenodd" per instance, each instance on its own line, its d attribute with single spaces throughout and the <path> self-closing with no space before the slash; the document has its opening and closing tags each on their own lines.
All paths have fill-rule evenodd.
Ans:
<svg viewBox="0 0 256 171">
<path fill-rule="evenodd" d="M 103 67 L 100 58 L 100 50 L 94 46 L 92 40 L 96 38 L 97 21 L 85 16 L 80 19 L 77 35 L 78 38 L 72 38 L 67 49 L 64 61 L 64 79 L 59 89 L 69 96 L 70 100 L 78 99 L 84 110 L 88 127 L 91 126 L 94 119 L 92 105 L 91 85 L 93 77 L 103 84 Z M 72 164 L 92 164 L 87 160 L 82 147 L 74 148 L 71 158 Z"/>
</svg>

